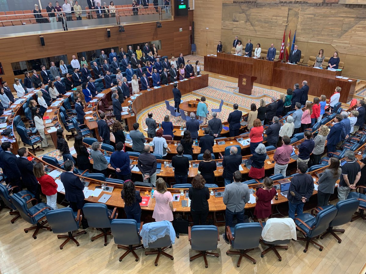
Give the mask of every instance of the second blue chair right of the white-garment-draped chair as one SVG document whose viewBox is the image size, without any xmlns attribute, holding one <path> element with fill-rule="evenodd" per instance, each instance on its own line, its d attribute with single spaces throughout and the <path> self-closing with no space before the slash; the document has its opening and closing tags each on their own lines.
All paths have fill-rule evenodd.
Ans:
<svg viewBox="0 0 366 274">
<path fill-rule="evenodd" d="M 333 229 L 333 227 L 338 227 L 340 225 L 347 224 L 351 221 L 352 215 L 358 209 L 360 202 L 356 198 L 347 198 L 344 201 L 339 201 L 336 204 L 336 209 L 338 210 L 336 217 L 333 221 L 330 222 L 329 228 L 327 231 L 320 236 L 320 239 L 323 239 L 329 233 L 332 234 L 337 240 L 338 243 L 342 242 L 342 239 L 336 235 L 335 232 L 344 233 L 344 229 Z M 328 206 L 324 206 L 323 208 L 318 208 L 320 210 L 326 209 Z"/>
</svg>

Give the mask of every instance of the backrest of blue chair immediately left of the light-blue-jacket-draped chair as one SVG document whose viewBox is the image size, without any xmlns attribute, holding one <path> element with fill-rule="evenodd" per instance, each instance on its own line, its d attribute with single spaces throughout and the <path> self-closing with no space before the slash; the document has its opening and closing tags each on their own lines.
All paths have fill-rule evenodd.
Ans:
<svg viewBox="0 0 366 274">
<path fill-rule="evenodd" d="M 111 222 L 111 230 L 115 244 L 140 244 L 137 221 L 133 219 L 115 219 Z"/>
</svg>

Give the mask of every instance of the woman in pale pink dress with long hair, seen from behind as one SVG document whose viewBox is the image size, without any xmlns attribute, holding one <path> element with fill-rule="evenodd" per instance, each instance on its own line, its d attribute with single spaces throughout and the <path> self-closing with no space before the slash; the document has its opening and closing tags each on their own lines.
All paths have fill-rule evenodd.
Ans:
<svg viewBox="0 0 366 274">
<path fill-rule="evenodd" d="M 154 191 L 155 208 L 153 218 L 156 222 L 173 221 L 173 196 L 167 191 L 167 184 L 162 178 L 156 180 L 156 191 Z"/>
</svg>

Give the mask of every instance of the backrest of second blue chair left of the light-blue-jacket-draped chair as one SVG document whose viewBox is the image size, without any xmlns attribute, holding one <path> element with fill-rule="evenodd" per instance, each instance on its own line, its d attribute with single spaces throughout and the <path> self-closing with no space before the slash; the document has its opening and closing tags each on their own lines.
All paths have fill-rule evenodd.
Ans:
<svg viewBox="0 0 366 274">
<path fill-rule="evenodd" d="M 94 228 L 110 228 L 111 219 L 107 205 L 104 203 L 86 203 L 83 206 L 83 214 L 88 220 L 88 225 Z"/>
</svg>

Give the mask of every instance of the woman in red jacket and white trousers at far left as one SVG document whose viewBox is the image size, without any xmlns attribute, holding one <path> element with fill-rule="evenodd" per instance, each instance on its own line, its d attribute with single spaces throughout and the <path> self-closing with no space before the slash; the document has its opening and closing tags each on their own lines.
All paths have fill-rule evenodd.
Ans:
<svg viewBox="0 0 366 274">
<path fill-rule="evenodd" d="M 57 184 L 55 180 L 45 172 L 45 167 L 42 163 L 37 163 L 33 167 L 33 174 L 41 184 L 42 193 L 46 195 L 47 205 L 53 209 L 57 209 Z"/>
</svg>

